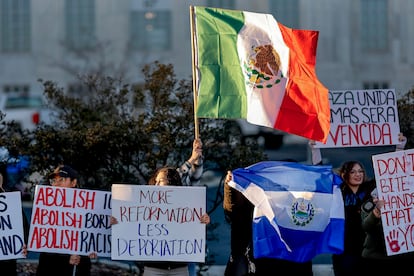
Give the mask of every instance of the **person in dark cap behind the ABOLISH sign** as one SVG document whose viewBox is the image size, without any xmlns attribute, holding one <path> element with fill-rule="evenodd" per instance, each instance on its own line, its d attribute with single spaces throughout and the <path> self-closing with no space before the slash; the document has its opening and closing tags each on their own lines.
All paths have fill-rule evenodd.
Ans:
<svg viewBox="0 0 414 276">
<path fill-rule="evenodd" d="M 60 165 L 48 176 L 48 179 L 50 184 L 55 187 L 76 188 L 79 174 L 68 165 Z M 89 256 L 79 256 L 41 252 L 36 276 L 90 276 L 90 259 L 96 257 L 96 253 L 91 253 Z"/>
</svg>

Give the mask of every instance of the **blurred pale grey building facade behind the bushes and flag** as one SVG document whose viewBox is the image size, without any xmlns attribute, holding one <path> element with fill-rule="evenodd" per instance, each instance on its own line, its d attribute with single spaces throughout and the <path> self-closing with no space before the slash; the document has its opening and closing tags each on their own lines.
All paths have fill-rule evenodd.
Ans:
<svg viewBox="0 0 414 276">
<path fill-rule="evenodd" d="M 190 79 L 190 5 L 318 30 L 316 70 L 330 90 L 414 86 L 411 0 L 0 0 L 0 93 L 38 93 L 43 79 L 82 94 L 85 73 L 135 84 L 154 61 Z"/>
</svg>

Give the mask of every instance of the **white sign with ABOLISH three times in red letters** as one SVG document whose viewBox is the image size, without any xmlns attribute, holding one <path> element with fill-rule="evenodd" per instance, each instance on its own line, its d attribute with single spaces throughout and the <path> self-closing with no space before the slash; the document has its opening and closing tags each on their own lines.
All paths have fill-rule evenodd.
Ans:
<svg viewBox="0 0 414 276">
<path fill-rule="evenodd" d="M 111 255 L 111 193 L 37 185 L 29 250 Z"/>
</svg>

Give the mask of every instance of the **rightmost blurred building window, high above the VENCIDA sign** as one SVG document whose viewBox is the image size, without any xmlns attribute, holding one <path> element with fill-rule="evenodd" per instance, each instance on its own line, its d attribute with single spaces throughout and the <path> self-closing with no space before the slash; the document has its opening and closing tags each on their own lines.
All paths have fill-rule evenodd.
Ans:
<svg viewBox="0 0 414 276">
<path fill-rule="evenodd" d="M 360 30 L 363 50 L 387 50 L 387 0 L 361 0 Z"/>
</svg>

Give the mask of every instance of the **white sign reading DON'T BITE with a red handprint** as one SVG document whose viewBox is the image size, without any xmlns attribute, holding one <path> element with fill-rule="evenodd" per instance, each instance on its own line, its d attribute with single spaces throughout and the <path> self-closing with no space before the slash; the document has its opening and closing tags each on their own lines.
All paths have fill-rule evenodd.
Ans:
<svg viewBox="0 0 414 276">
<path fill-rule="evenodd" d="M 387 255 L 414 251 L 414 150 L 372 156 Z"/>
</svg>

